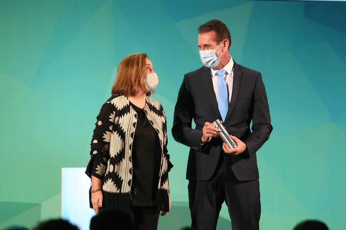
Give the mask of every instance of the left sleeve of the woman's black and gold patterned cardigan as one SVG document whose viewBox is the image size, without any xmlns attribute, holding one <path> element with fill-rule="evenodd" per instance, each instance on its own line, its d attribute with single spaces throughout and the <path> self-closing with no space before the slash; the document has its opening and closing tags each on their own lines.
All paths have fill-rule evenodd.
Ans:
<svg viewBox="0 0 346 230">
<path fill-rule="evenodd" d="M 97 116 L 95 129 L 91 139 L 90 161 L 86 167 L 86 175 L 103 179 L 109 159 L 109 143 L 114 123 L 114 112 L 111 103 L 104 103 Z"/>
</svg>

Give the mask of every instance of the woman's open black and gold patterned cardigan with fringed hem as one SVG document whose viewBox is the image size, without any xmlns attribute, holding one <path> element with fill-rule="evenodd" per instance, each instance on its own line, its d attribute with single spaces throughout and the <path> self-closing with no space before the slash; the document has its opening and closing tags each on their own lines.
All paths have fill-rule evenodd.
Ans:
<svg viewBox="0 0 346 230">
<path fill-rule="evenodd" d="M 169 211 L 168 172 L 173 165 L 167 154 L 165 112 L 159 102 L 148 96 L 144 112 L 158 133 L 162 149 L 157 186 L 158 210 Z M 97 117 L 91 140 L 91 159 L 85 173 L 90 178 L 95 176 L 102 180 L 102 207 L 129 210 L 132 185 L 131 152 L 136 123 L 136 111 L 130 106 L 128 98 L 120 95 L 110 97 Z"/>
</svg>

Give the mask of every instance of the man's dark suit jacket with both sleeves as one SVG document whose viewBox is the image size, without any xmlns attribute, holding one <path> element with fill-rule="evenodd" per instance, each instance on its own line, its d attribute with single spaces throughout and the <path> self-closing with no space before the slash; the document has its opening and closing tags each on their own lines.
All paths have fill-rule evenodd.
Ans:
<svg viewBox="0 0 346 230">
<path fill-rule="evenodd" d="M 246 151 L 227 157 L 238 180 L 256 180 L 259 178 L 256 151 L 273 130 L 267 96 L 260 72 L 234 62 L 233 75 L 232 97 L 224 125 L 229 134 L 246 144 Z M 192 119 L 195 129 L 191 127 Z M 172 134 L 177 142 L 190 147 L 186 179 L 206 181 L 215 171 L 223 142 L 221 138 L 212 138 L 201 145 L 201 137 L 204 123 L 217 119 L 222 120 L 210 69 L 202 67 L 185 74 L 174 110 Z"/>
</svg>

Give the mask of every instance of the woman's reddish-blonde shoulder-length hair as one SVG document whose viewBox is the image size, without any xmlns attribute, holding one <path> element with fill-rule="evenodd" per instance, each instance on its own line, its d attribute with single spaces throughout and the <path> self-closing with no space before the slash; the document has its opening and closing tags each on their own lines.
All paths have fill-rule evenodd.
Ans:
<svg viewBox="0 0 346 230">
<path fill-rule="evenodd" d="M 135 88 L 145 89 L 146 58 L 146 53 L 133 53 L 120 61 L 112 95 L 135 96 Z M 146 94 L 150 96 L 151 92 L 148 91 Z"/>
</svg>

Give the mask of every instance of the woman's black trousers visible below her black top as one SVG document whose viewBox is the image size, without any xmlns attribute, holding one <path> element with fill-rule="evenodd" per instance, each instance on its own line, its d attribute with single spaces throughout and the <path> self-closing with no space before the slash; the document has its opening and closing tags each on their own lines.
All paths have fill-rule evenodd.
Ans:
<svg viewBox="0 0 346 230">
<path fill-rule="evenodd" d="M 157 230 L 160 216 L 157 206 L 131 206 L 130 212 L 135 230 Z"/>
</svg>

